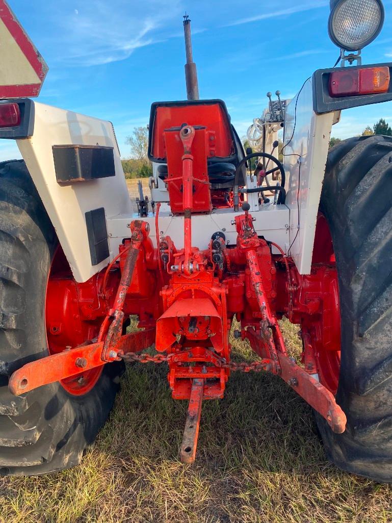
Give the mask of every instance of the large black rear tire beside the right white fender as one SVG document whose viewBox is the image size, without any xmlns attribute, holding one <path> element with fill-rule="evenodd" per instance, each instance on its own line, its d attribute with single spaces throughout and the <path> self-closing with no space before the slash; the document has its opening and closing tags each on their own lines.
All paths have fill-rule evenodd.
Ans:
<svg viewBox="0 0 392 523">
<path fill-rule="evenodd" d="M 320 210 L 339 279 L 343 434 L 321 416 L 328 457 L 343 470 L 392 482 L 392 138 L 352 138 L 328 155 Z"/>
</svg>

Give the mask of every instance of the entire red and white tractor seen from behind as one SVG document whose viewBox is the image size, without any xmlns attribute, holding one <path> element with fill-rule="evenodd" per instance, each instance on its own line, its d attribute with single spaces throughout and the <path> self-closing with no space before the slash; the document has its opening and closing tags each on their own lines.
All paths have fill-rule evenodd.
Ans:
<svg viewBox="0 0 392 523">
<path fill-rule="evenodd" d="M 331 0 L 339 60 L 291 100 L 268 93 L 255 152 L 224 101 L 199 98 L 185 16 L 187 99 L 152 104 L 153 176 L 134 202 L 112 124 L 32 99 L 47 66 L 0 1 L 3 49 L 19 46 L 36 72 L 16 68 L 14 48 L 0 58 L 0 138 L 23 158 L 0 164 L 3 475 L 77 465 L 124 365 L 151 362 L 189 402 L 183 463 L 203 401 L 232 372 L 269 372 L 313 407 L 333 463 L 392 481 L 392 138 L 329 150 L 343 109 L 392 100 L 392 63 L 361 62 L 384 16 L 381 0 Z M 283 317 L 299 326 L 301 361 Z M 230 359 L 232 328 L 252 363 Z"/>
</svg>

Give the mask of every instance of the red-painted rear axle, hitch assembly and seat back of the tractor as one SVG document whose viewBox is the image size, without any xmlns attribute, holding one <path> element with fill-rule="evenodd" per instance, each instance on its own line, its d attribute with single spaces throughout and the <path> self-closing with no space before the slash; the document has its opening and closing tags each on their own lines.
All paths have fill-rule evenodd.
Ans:
<svg viewBox="0 0 392 523">
<path fill-rule="evenodd" d="M 155 338 L 155 348 L 162 354 L 157 361 L 168 363 L 174 399 L 191 400 L 193 406 L 203 399 L 219 399 L 230 371 L 241 368 L 230 361 L 229 332 L 235 317 L 241 324 L 237 335 L 247 338 L 260 357 L 251 365 L 242 364 L 242 369 L 279 374 L 333 430 L 343 431 L 345 416 L 332 395 L 338 367 L 328 372 L 324 365 L 321 383 L 317 379 L 317 360 L 327 358 L 330 350 L 339 363 L 340 345 L 335 258 L 322 215 L 316 240 L 323 246 L 320 253 L 315 250 L 316 263 L 309 276 L 298 274 L 282 247 L 258 237 L 243 197 L 244 212 L 236 214 L 234 221 L 236 244 L 227 245 L 222 231 L 205 231 L 211 239 L 208 248 L 200 250 L 192 244 L 197 215 L 220 208 L 221 189 L 216 189 L 216 198 L 209 166 L 230 163 L 232 170 L 238 170 L 243 153 L 241 157 L 236 151 L 229 120 L 216 101 L 154 104 L 150 129 L 150 156 L 167 165 L 163 173 L 169 205 L 173 214 L 183 215 L 183 248 L 159 233 L 158 203 L 157 247 L 149 238 L 148 222 L 134 220 L 118 256 L 85 283 L 71 278 L 60 251 L 47 293 L 51 365 L 42 368 L 40 361 L 22 367 L 10 379 L 11 391 L 20 394 L 38 382 L 62 380 L 70 392 L 83 394 L 94 386 L 103 363 L 129 358 L 143 348 L 139 342 L 132 346 L 127 342 L 139 337 L 148 342 L 146 347 Z M 279 254 L 272 254 L 273 246 Z M 123 335 L 130 315 L 139 317 L 144 331 Z M 287 356 L 278 323 L 283 316 L 302 325 L 304 368 Z M 63 345 L 70 343 L 72 350 L 64 351 Z M 197 412 L 200 415 L 200 408 Z M 191 429 L 186 425 L 184 445 L 191 450 L 182 449 L 185 461 L 194 459 L 198 423 L 196 419 Z"/>
</svg>

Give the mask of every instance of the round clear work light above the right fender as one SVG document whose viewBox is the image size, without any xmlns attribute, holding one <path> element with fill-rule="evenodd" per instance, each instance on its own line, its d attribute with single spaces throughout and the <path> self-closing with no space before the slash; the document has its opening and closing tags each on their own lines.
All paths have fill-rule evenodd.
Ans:
<svg viewBox="0 0 392 523">
<path fill-rule="evenodd" d="M 372 42 L 384 24 L 381 0 L 332 0 L 328 33 L 341 49 L 358 51 Z"/>
</svg>

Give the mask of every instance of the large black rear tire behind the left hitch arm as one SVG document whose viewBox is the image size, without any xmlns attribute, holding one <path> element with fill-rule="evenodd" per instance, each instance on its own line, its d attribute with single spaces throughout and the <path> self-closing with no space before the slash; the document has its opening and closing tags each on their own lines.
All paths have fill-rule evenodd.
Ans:
<svg viewBox="0 0 392 523">
<path fill-rule="evenodd" d="M 119 389 L 107 365 L 93 389 L 52 383 L 16 397 L 11 373 L 48 356 L 45 295 L 57 237 L 26 165 L 0 164 L 0 473 L 36 475 L 77 465 Z"/>
</svg>

